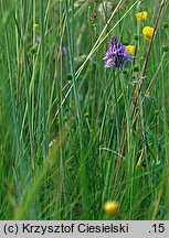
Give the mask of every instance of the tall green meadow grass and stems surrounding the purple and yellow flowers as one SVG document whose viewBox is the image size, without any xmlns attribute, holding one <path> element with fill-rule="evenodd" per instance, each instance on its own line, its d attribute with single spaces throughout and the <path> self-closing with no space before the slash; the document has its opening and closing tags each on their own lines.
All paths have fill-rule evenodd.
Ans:
<svg viewBox="0 0 169 238">
<path fill-rule="evenodd" d="M 0 219 L 169 218 L 168 12 L 0 0 Z M 123 68 L 105 67 L 113 36 L 135 46 Z"/>
</svg>

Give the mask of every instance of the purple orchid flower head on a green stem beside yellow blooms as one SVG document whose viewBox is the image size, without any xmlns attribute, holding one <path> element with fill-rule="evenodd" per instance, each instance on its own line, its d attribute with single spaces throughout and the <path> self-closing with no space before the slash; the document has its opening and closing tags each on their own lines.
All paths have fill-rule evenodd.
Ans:
<svg viewBox="0 0 169 238">
<path fill-rule="evenodd" d="M 123 45 L 116 36 L 113 36 L 109 41 L 109 46 L 104 57 L 106 61 L 105 67 L 115 67 L 118 69 L 124 69 L 125 63 L 131 61 L 133 57 L 126 51 L 125 45 Z"/>
</svg>

